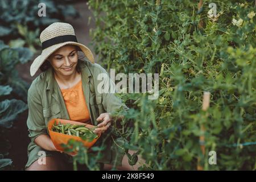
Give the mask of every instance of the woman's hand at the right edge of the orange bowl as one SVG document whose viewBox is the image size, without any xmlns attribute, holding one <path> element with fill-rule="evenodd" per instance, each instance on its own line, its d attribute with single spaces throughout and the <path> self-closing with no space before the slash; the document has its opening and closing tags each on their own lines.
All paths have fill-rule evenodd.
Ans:
<svg viewBox="0 0 256 182">
<path fill-rule="evenodd" d="M 111 125 L 111 116 L 109 113 L 102 113 L 96 121 L 102 121 L 97 125 L 97 128 L 94 130 L 94 133 L 104 133 Z"/>
</svg>

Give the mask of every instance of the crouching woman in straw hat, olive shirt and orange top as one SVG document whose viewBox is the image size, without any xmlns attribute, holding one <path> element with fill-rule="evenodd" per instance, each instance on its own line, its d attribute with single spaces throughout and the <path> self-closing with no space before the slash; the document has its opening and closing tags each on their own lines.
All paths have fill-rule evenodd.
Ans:
<svg viewBox="0 0 256 182">
<path fill-rule="evenodd" d="M 97 76 L 106 71 L 94 63 L 90 49 L 77 43 L 75 31 L 68 23 L 51 24 L 41 33 L 40 41 L 42 54 L 30 68 L 31 76 L 38 69 L 43 72 L 28 90 L 27 126 L 31 143 L 26 170 L 69 169 L 67 154 L 57 151 L 49 138 L 47 123 L 52 118 L 97 125 L 94 133 L 102 134 L 97 143 L 106 145 L 99 161 L 104 163 L 104 169 L 111 169 L 113 165 L 118 166 L 117 169 L 138 169 L 137 164 L 129 165 L 125 153 L 114 144 L 109 130 L 111 113 L 127 107 L 114 94 L 98 92 Z M 89 61 L 79 60 L 77 51 L 82 51 Z M 46 154 L 43 164 L 39 162 L 42 151 Z"/>
</svg>

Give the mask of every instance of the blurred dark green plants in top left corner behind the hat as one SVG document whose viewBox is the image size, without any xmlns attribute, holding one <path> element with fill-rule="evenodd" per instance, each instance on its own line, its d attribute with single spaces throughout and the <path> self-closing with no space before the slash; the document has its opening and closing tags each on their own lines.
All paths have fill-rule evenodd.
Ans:
<svg viewBox="0 0 256 182">
<path fill-rule="evenodd" d="M 39 17 L 38 11 L 46 5 L 46 16 Z M 2 0 L 0 1 L 0 37 L 5 42 L 10 41 L 11 47 L 29 47 L 36 52 L 40 48 L 39 32 L 54 22 L 61 22 L 79 14 L 71 5 L 71 0 Z M 42 13 L 42 11 L 39 11 Z"/>
</svg>

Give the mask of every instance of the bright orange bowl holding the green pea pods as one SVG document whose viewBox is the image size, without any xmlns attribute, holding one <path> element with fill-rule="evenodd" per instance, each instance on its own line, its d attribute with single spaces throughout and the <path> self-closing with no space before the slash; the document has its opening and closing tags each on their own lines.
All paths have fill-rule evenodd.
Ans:
<svg viewBox="0 0 256 182">
<path fill-rule="evenodd" d="M 101 134 L 98 134 L 98 137 L 93 139 L 92 142 L 88 142 L 86 140 L 82 140 L 80 137 L 76 137 L 76 136 L 71 136 L 71 135 L 67 135 L 67 134 L 62 134 L 62 133 L 57 133 L 55 131 L 52 131 L 52 127 L 54 125 L 54 123 L 61 123 L 61 124 L 72 124 L 72 125 L 85 125 L 85 127 L 87 127 L 88 129 L 92 129 L 93 125 L 88 125 L 86 123 L 81 123 L 81 122 L 77 122 L 77 121 L 71 121 L 71 120 L 66 120 L 66 119 L 58 119 L 58 118 L 53 118 L 51 119 L 51 121 L 48 122 L 48 131 L 49 131 L 49 136 L 51 137 L 51 140 L 54 144 L 54 146 L 56 147 L 56 149 L 58 151 L 64 151 L 63 147 L 61 147 L 61 144 L 68 144 L 68 141 L 70 139 L 74 139 L 76 141 L 82 142 L 84 143 L 84 146 L 87 148 L 90 148 L 93 146 L 93 144 L 95 142 L 97 142 L 98 138 L 100 138 Z"/>
</svg>

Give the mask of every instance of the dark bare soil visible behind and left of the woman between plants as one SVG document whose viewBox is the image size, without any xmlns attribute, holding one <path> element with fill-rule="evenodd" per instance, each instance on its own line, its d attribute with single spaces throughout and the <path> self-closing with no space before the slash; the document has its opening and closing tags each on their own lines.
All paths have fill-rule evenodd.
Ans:
<svg viewBox="0 0 256 182">
<path fill-rule="evenodd" d="M 92 13 L 88 10 L 86 2 L 76 3 L 75 8 L 79 11 L 81 17 L 77 19 L 66 19 L 65 22 L 72 24 L 75 28 L 77 40 L 85 44 L 93 52 L 92 46 L 90 46 L 91 39 L 89 37 L 89 28 L 94 27 L 93 18 L 90 26 L 88 26 L 88 18 L 92 16 Z M 40 54 L 41 50 L 38 51 L 33 57 Z M 96 55 L 93 52 L 96 58 Z M 97 60 L 97 58 L 96 58 Z M 40 71 L 36 73 L 34 77 L 30 76 L 30 65 L 32 61 L 26 64 L 17 65 L 16 69 L 19 72 L 19 76 L 26 80 L 29 84 L 40 74 Z M 27 162 L 27 145 L 30 142 L 27 131 L 27 115 L 28 111 L 20 114 L 18 119 L 14 122 L 14 126 L 7 130 L 6 137 L 10 140 L 11 148 L 9 150 L 9 158 L 13 160 L 14 170 L 24 170 L 24 166 Z"/>
</svg>

